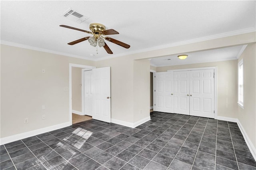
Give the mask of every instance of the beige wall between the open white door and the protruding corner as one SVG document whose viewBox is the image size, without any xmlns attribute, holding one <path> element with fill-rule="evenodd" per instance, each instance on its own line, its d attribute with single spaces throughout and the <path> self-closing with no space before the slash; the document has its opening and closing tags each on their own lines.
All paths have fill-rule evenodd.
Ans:
<svg viewBox="0 0 256 170">
<path fill-rule="evenodd" d="M 111 67 L 111 119 L 133 123 L 133 59 L 124 56 L 96 63 L 107 66 Z"/>
</svg>

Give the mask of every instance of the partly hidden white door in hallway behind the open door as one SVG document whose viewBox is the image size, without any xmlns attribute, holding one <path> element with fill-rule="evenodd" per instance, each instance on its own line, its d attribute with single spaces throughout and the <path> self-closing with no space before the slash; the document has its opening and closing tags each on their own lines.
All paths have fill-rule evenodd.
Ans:
<svg viewBox="0 0 256 170">
<path fill-rule="evenodd" d="M 92 116 L 92 70 L 84 71 L 84 114 Z"/>
</svg>

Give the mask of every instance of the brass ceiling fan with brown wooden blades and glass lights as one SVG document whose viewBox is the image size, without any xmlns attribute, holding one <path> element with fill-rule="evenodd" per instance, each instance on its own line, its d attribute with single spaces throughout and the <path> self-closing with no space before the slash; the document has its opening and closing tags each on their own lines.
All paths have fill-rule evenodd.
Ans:
<svg viewBox="0 0 256 170">
<path fill-rule="evenodd" d="M 123 42 L 120 42 L 118 40 L 115 40 L 114 38 L 110 38 L 110 37 L 104 37 L 106 35 L 112 35 L 112 34 L 119 34 L 116 30 L 113 30 L 113 29 L 109 29 L 109 30 L 106 30 L 106 27 L 102 24 L 99 24 L 99 23 L 92 23 L 90 24 L 90 31 L 86 31 L 86 30 L 81 30 L 79 28 L 74 28 L 74 27 L 70 27 L 70 26 L 65 26 L 65 25 L 60 25 L 61 27 L 65 27 L 65 28 L 70 28 L 70 29 L 73 29 L 73 30 L 78 30 L 78 31 L 82 31 L 82 32 L 86 32 L 88 34 L 92 34 L 93 36 L 90 37 L 90 36 L 87 36 L 87 37 L 84 37 L 84 38 L 81 38 L 79 40 L 76 40 L 76 41 L 73 41 L 73 42 L 70 42 L 68 43 L 68 45 L 74 45 L 76 43 L 80 43 L 80 42 L 83 42 L 85 40 L 88 40 L 88 42 L 90 43 L 90 45 L 96 47 L 97 45 L 99 47 L 104 47 L 104 49 L 107 51 L 107 53 L 109 54 L 112 54 L 113 52 L 111 51 L 111 49 L 108 47 L 108 45 L 106 44 L 106 41 L 109 41 L 109 42 L 112 42 L 112 43 L 115 43 L 117 45 L 120 45 L 124 48 L 130 48 L 130 45 L 126 44 L 126 43 L 123 43 Z M 97 51 L 98 53 L 98 51 Z"/>
</svg>

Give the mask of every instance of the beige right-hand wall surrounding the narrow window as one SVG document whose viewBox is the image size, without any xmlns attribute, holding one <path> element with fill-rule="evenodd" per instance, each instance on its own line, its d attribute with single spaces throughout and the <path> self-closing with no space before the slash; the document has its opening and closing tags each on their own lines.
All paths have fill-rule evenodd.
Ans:
<svg viewBox="0 0 256 170">
<path fill-rule="evenodd" d="M 238 120 L 256 148 L 256 44 L 246 47 L 244 59 L 244 109 L 238 106 Z"/>
</svg>

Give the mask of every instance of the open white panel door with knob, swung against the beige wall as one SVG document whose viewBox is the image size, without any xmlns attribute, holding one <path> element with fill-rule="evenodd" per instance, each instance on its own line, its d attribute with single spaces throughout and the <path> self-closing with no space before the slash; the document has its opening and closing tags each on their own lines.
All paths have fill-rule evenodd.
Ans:
<svg viewBox="0 0 256 170">
<path fill-rule="evenodd" d="M 92 119 L 110 123 L 110 67 L 92 69 L 92 87 Z"/>
</svg>

